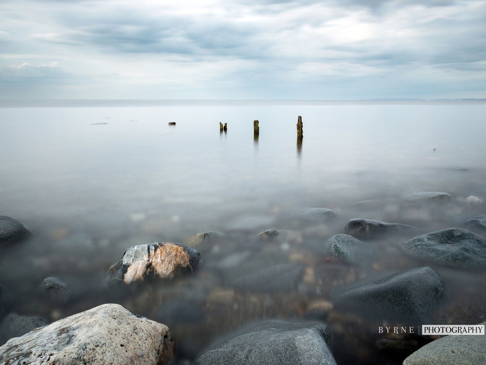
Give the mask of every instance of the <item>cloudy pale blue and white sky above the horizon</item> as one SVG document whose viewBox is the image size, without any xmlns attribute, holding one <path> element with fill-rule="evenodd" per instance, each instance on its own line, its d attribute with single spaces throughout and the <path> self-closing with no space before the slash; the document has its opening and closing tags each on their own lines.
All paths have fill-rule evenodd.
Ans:
<svg viewBox="0 0 486 365">
<path fill-rule="evenodd" d="M 0 99 L 486 98 L 486 0 L 0 1 Z"/>
</svg>

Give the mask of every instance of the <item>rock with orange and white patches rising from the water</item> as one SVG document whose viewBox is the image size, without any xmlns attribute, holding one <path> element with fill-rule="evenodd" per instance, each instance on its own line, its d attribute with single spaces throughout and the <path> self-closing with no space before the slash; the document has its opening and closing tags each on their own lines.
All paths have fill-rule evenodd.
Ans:
<svg viewBox="0 0 486 365">
<path fill-rule="evenodd" d="M 110 267 L 111 281 L 130 284 L 153 279 L 172 279 L 201 264 L 201 254 L 172 242 L 155 242 L 130 247 L 120 261 Z"/>
</svg>

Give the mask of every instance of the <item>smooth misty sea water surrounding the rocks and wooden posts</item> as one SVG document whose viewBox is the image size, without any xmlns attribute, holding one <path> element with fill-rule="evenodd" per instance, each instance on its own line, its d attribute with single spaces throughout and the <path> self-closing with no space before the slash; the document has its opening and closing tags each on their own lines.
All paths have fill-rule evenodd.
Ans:
<svg viewBox="0 0 486 365">
<path fill-rule="evenodd" d="M 449 293 L 430 321 L 485 321 L 483 272 L 419 261 L 401 243 L 486 213 L 485 205 L 466 203 L 469 196 L 486 201 L 486 103 L 2 101 L 1 107 L 0 215 L 33 233 L 1 248 L 3 314 L 52 322 L 119 303 L 168 325 L 178 361 L 187 364 L 244 324 L 306 320 L 312 303 L 332 303 L 338 292 L 430 266 Z M 403 197 L 414 191 L 452 199 L 405 206 Z M 355 204 L 368 200 L 379 201 Z M 338 218 L 303 221 L 296 212 L 305 207 L 329 208 Z M 352 264 L 326 262 L 324 242 L 353 218 L 417 230 L 364 241 Z M 257 239 L 273 228 L 292 235 Z M 191 243 L 206 231 L 224 238 Z M 108 268 L 128 247 L 152 242 L 190 245 L 203 264 L 171 281 L 112 288 Z M 283 264 L 296 269 L 270 283 L 262 277 L 240 285 L 245 275 Z M 67 303 L 39 294 L 49 276 L 70 285 Z M 401 364 L 406 355 L 374 347 L 377 326 L 393 321 L 327 311 L 338 364 Z"/>
</svg>

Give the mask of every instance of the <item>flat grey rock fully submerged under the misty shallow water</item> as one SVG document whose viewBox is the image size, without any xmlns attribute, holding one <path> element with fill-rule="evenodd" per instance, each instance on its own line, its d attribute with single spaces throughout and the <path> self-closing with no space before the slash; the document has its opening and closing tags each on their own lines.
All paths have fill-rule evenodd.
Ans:
<svg viewBox="0 0 486 365">
<path fill-rule="evenodd" d="M 304 266 L 296 263 L 278 264 L 243 274 L 230 281 L 230 285 L 249 291 L 292 291 L 302 277 Z"/>
</svg>

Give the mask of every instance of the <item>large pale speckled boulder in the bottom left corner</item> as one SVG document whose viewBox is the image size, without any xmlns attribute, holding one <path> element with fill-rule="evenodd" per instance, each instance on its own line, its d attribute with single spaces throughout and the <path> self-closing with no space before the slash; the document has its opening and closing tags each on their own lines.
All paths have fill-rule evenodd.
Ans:
<svg viewBox="0 0 486 365">
<path fill-rule="evenodd" d="M 12 338 L 0 364 L 165 365 L 175 340 L 167 326 L 104 304 Z"/>
</svg>

